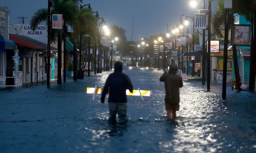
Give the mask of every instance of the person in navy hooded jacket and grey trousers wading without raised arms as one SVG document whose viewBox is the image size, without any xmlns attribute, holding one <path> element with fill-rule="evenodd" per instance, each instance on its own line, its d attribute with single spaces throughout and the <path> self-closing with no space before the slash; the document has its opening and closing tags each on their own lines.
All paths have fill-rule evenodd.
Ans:
<svg viewBox="0 0 256 153">
<path fill-rule="evenodd" d="M 127 97 L 126 90 L 133 92 L 133 84 L 130 78 L 122 73 L 122 63 L 117 61 L 114 64 L 114 73 L 111 73 L 105 83 L 101 94 L 101 102 L 104 103 L 104 99 L 109 89 L 109 122 L 110 124 L 116 123 L 116 113 L 119 116 L 119 124 L 126 124 L 128 119 L 126 116 L 127 111 Z"/>
</svg>

